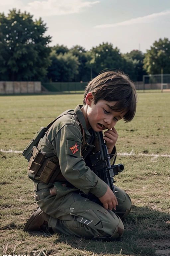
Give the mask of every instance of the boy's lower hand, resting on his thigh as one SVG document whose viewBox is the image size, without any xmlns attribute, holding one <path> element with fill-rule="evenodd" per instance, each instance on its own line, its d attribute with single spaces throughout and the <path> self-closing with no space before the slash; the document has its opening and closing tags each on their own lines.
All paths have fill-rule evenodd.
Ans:
<svg viewBox="0 0 170 256">
<path fill-rule="evenodd" d="M 113 191 L 108 186 L 108 189 L 104 196 L 99 197 L 99 200 L 102 202 L 103 207 L 107 210 L 116 210 L 116 206 L 118 205 L 118 201 L 116 196 L 114 195 Z"/>
</svg>

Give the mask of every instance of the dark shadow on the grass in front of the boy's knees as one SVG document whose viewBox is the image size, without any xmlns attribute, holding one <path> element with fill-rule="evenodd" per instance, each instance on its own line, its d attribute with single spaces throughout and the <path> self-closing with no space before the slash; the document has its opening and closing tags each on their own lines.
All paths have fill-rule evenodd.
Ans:
<svg viewBox="0 0 170 256">
<path fill-rule="evenodd" d="M 123 236 L 112 242 L 66 235 L 60 235 L 54 242 L 66 243 L 75 249 L 100 255 L 124 253 L 134 256 L 154 256 L 157 249 L 155 241 L 170 239 L 170 215 L 148 207 L 132 206 L 124 226 Z"/>
</svg>

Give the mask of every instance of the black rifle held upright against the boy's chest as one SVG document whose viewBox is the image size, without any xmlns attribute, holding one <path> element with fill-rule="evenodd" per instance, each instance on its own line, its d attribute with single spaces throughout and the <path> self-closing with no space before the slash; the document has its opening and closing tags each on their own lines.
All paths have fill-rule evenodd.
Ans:
<svg viewBox="0 0 170 256">
<path fill-rule="evenodd" d="M 97 132 L 97 136 L 98 136 L 100 150 L 90 156 L 91 163 L 92 163 L 92 171 L 99 178 L 101 178 L 106 184 L 108 184 L 110 189 L 115 194 L 115 188 L 113 185 L 113 183 L 115 182 L 114 176 L 118 175 L 119 172 L 122 172 L 124 170 L 124 165 L 123 164 L 111 165 L 110 155 L 108 153 L 106 142 L 103 139 L 103 132 Z M 100 200 L 92 193 L 88 193 L 86 195 L 81 193 L 81 195 L 103 206 Z"/>
</svg>

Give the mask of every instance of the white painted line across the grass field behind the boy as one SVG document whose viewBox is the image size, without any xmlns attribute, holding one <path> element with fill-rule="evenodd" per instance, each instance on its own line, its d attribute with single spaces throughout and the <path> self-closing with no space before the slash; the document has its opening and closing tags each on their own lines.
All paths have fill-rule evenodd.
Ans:
<svg viewBox="0 0 170 256">
<path fill-rule="evenodd" d="M 3 149 L 1 149 L 0 150 L 1 152 L 3 152 L 3 153 L 22 153 L 23 151 L 16 151 L 16 150 L 12 150 L 12 149 L 10 149 L 10 150 L 3 150 Z M 134 152 L 133 152 L 133 149 L 132 149 L 132 151 L 130 152 L 130 153 L 117 153 L 117 155 L 118 156 L 150 156 L 150 157 L 154 157 L 154 158 L 157 158 L 157 157 L 170 157 L 170 155 L 168 155 L 168 154 L 165 154 L 165 155 L 162 155 L 162 154 L 143 154 L 143 153 L 139 153 L 139 154 L 135 154 Z"/>
</svg>

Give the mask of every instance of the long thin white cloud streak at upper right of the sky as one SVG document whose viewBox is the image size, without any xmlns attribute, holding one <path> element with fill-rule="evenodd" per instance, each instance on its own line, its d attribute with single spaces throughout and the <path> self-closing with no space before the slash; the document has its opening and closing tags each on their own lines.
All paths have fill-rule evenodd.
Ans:
<svg viewBox="0 0 170 256">
<path fill-rule="evenodd" d="M 118 22 L 118 23 L 113 23 L 113 24 L 97 25 L 94 28 L 112 28 L 112 27 L 127 26 L 127 25 L 132 25 L 132 24 L 150 23 L 150 22 L 154 22 L 159 17 L 167 16 L 167 15 L 170 15 L 169 10 L 164 11 L 164 12 L 153 13 L 153 14 L 143 16 L 143 17 L 138 17 L 138 18 L 126 20 L 126 21 L 123 21 L 123 22 Z"/>
</svg>

